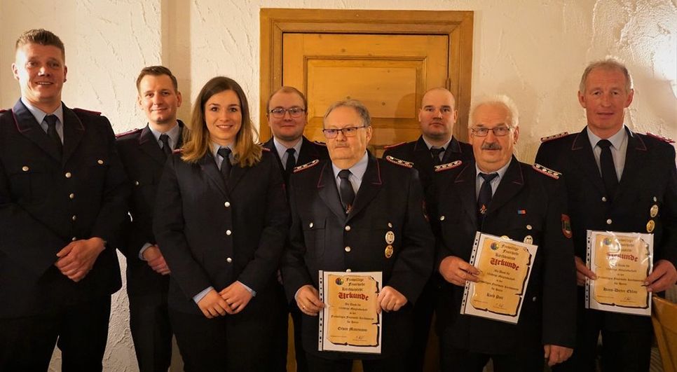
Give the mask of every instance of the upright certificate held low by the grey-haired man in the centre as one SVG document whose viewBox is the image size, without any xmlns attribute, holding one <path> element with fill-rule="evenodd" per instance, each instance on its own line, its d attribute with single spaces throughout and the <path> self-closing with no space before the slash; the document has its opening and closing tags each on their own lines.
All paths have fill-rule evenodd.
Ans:
<svg viewBox="0 0 677 372">
<path fill-rule="evenodd" d="M 381 354 L 378 294 L 381 272 L 320 271 L 320 334 L 317 350 Z"/>
</svg>

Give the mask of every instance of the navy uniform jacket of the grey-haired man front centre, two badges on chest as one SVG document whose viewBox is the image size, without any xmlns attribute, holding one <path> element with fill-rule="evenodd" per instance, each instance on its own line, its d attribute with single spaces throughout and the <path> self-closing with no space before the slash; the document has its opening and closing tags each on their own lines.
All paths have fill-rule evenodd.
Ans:
<svg viewBox="0 0 677 372">
<path fill-rule="evenodd" d="M 434 239 L 423 214 L 418 172 L 376 159 L 369 154 L 367 171 L 350 214 L 343 212 L 331 160 L 292 174 L 291 242 L 282 263 L 289 301 L 303 285 L 318 288 L 319 270 L 381 271 L 383 287 L 390 286 L 409 301 L 396 312 L 383 312 L 381 356 L 404 352 L 413 335 L 413 312 L 432 271 Z M 385 256 L 385 233 L 395 233 L 393 254 Z M 346 247 L 350 247 L 349 252 Z M 303 348 L 325 358 L 346 354 L 317 351 L 317 317 L 303 315 Z"/>
</svg>

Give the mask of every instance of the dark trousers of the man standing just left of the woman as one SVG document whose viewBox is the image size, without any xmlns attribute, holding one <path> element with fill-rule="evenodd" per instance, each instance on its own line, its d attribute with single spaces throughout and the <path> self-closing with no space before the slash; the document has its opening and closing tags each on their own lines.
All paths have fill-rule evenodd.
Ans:
<svg viewBox="0 0 677 372">
<path fill-rule="evenodd" d="M 172 326 L 167 292 L 129 296 L 130 330 L 139 371 L 167 372 L 172 363 Z"/>
</svg>

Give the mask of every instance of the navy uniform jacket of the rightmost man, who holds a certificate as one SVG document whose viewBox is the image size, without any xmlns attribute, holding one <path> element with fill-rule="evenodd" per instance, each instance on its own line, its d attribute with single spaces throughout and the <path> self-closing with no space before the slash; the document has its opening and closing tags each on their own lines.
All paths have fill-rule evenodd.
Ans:
<svg viewBox="0 0 677 372">
<path fill-rule="evenodd" d="M 543 142 L 536 162 L 564 174 L 576 256 L 585 261 L 586 230 L 647 233 L 651 220 L 655 223 L 654 262 L 666 259 L 677 267 L 675 149 L 654 137 L 625 130 L 627 153 L 613 202 L 607 198 L 585 128 Z M 654 218 L 650 216 L 653 205 L 658 207 Z M 611 329 L 630 330 L 638 325 L 636 316 L 612 312 L 605 316 Z"/>
</svg>

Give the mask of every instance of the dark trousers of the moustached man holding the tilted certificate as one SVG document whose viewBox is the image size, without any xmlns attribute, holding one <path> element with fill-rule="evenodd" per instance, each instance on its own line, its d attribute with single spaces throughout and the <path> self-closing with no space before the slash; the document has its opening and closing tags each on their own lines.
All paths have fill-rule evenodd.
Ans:
<svg viewBox="0 0 677 372">
<path fill-rule="evenodd" d="M 517 354 L 483 354 L 445 347 L 444 342 L 440 342 L 442 372 L 482 372 L 489 359 L 493 361 L 494 372 L 543 372 L 545 352 L 542 349 Z"/>
</svg>

